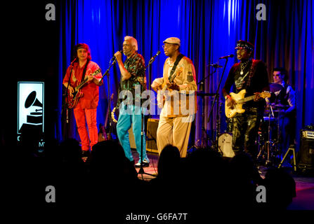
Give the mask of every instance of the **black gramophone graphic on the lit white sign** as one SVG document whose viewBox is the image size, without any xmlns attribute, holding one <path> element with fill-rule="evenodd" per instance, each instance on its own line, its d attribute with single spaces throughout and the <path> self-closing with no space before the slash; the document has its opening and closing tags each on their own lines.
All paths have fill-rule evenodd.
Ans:
<svg viewBox="0 0 314 224">
<path fill-rule="evenodd" d="M 34 107 L 34 110 L 27 114 L 26 123 L 22 125 L 20 130 L 42 130 L 43 125 L 43 104 L 39 102 L 39 100 L 36 97 L 36 91 L 32 91 L 27 99 L 25 100 L 25 109 L 32 109 Z M 37 109 L 36 107 L 41 107 L 41 109 Z"/>
</svg>

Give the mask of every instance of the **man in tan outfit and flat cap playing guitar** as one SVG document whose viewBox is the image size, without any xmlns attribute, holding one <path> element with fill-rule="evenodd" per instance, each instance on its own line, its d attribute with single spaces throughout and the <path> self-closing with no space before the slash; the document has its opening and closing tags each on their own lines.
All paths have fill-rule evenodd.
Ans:
<svg viewBox="0 0 314 224">
<path fill-rule="evenodd" d="M 157 148 L 160 155 L 164 146 L 171 144 L 178 148 L 181 158 L 185 158 L 188 151 L 191 124 L 196 113 L 195 95 L 192 98 L 188 97 L 188 91 L 192 90 L 191 92 L 194 93 L 197 90 L 195 68 L 192 61 L 181 54 L 181 41 L 179 38 L 166 38 L 163 43 L 164 54 L 168 56 L 164 62 L 163 78 L 156 78 L 152 82 L 151 87 L 157 92 L 158 90 L 162 90 L 162 85 L 164 84 L 167 85 L 169 92 L 176 90 L 180 93 L 187 93 L 185 98 L 180 98 L 179 105 L 176 105 L 181 106 L 185 104 L 188 114 L 183 114 L 183 111 L 180 110 L 177 110 L 180 113 L 175 113 L 176 109 L 172 108 L 175 106 L 174 97 L 166 100 L 159 116 Z M 178 63 L 177 65 L 176 62 Z M 176 70 L 173 75 L 176 74 L 176 78 L 174 78 L 173 83 L 170 83 L 169 76 L 174 66 L 176 66 Z M 193 94 L 191 95 L 193 96 Z M 192 103 L 189 100 L 192 100 Z"/>
</svg>

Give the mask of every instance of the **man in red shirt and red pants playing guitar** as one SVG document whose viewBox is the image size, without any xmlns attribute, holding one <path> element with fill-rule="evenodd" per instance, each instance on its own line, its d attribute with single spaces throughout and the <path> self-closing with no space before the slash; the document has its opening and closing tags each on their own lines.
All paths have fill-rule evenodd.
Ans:
<svg viewBox="0 0 314 224">
<path fill-rule="evenodd" d="M 88 79 L 88 82 L 81 87 L 83 96 L 79 98 L 79 102 L 74 106 L 73 110 L 77 122 L 77 131 L 79 132 L 79 137 L 81 139 L 83 157 L 86 157 L 89 155 L 89 150 L 98 142 L 96 116 L 99 86 L 103 85 L 103 81 L 101 80 L 101 73 L 91 76 L 94 71 L 99 69 L 99 66 L 96 62 L 91 61 L 91 50 L 89 49 L 89 45 L 86 43 L 79 43 L 75 46 L 75 49 L 77 59 L 67 68 L 65 78 L 63 78 L 63 85 L 67 87 L 72 70 L 69 85 L 69 94 L 70 97 L 72 97 L 74 87 L 77 87 L 84 78 Z M 86 123 L 89 132 L 87 132 Z"/>
</svg>

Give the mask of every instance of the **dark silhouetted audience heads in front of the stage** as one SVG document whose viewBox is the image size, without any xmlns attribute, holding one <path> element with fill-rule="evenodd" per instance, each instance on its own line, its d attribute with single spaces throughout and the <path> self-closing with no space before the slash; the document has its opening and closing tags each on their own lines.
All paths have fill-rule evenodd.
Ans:
<svg viewBox="0 0 314 224">
<path fill-rule="evenodd" d="M 45 202 L 46 186 L 58 190 L 57 205 L 107 204 L 115 211 L 286 209 L 296 196 L 292 176 L 268 169 L 262 179 L 246 153 L 226 160 L 216 151 L 199 148 L 180 158 L 178 148 L 167 145 L 159 156 L 157 177 L 148 182 L 138 178 L 117 141 L 98 142 L 86 162 L 75 139 L 60 144 L 48 139 L 44 153 L 34 153 L 34 148 L 34 142 L 25 141 L 16 148 L 19 156 L 11 164 L 15 183 L 29 183 L 26 200 L 34 204 L 55 206 Z M 262 204 L 256 202 L 260 185 L 267 190 L 267 202 Z M 148 197 L 150 207 L 145 203 Z"/>
</svg>

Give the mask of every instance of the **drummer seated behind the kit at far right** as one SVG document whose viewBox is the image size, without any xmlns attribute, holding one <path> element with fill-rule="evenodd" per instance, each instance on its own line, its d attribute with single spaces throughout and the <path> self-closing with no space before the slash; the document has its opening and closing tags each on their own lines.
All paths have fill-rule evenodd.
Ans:
<svg viewBox="0 0 314 224">
<path fill-rule="evenodd" d="M 284 68 L 273 69 L 273 82 L 270 91 L 275 94 L 270 98 L 270 105 L 280 113 L 280 146 L 284 155 L 290 144 L 294 144 L 296 102 L 295 92 L 291 85 L 287 84 L 288 76 Z M 273 85 L 273 86 L 272 86 Z M 281 85 L 281 86 L 280 86 Z"/>
</svg>

